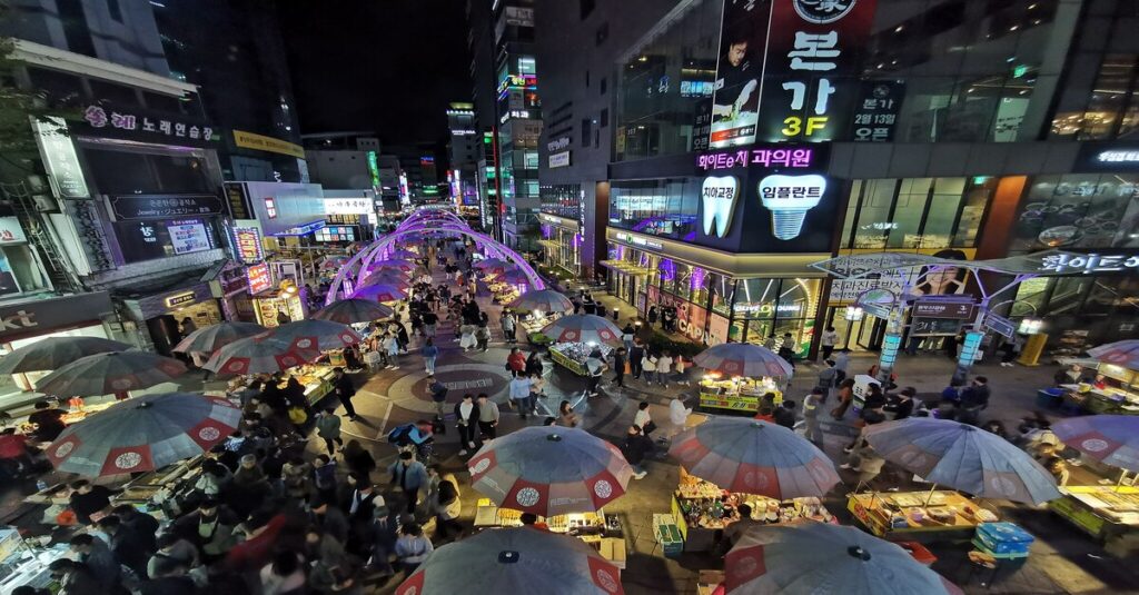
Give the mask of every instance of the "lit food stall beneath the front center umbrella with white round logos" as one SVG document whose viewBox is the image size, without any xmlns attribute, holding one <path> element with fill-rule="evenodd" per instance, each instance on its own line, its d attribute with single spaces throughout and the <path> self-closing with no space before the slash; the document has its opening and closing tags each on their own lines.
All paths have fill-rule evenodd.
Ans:
<svg viewBox="0 0 1139 595">
<path fill-rule="evenodd" d="M 585 541 L 601 556 L 621 570 L 625 568 L 625 539 L 621 520 L 605 514 L 604 510 L 584 513 L 538 517 L 551 532 L 571 535 Z M 499 508 L 490 498 L 480 498 L 475 510 L 475 529 L 493 527 L 522 527 L 522 513 L 510 508 Z"/>
</svg>

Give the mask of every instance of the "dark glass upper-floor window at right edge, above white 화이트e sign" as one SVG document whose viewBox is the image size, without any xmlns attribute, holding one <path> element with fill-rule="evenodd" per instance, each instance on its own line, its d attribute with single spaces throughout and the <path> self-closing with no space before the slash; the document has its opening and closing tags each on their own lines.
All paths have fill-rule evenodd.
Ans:
<svg viewBox="0 0 1139 595">
<path fill-rule="evenodd" d="M 1139 246 L 1139 174 L 1039 176 L 1022 203 L 1013 251 Z"/>
</svg>

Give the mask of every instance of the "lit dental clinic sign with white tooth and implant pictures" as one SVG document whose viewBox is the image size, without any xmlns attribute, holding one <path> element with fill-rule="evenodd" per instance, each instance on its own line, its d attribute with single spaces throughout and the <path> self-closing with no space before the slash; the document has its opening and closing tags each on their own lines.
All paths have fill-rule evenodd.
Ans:
<svg viewBox="0 0 1139 595">
<path fill-rule="evenodd" d="M 695 243 L 734 252 L 827 252 L 835 225 L 827 145 L 747 146 L 696 155 Z M 746 230 L 746 233 L 745 233 Z"/>
</svg>

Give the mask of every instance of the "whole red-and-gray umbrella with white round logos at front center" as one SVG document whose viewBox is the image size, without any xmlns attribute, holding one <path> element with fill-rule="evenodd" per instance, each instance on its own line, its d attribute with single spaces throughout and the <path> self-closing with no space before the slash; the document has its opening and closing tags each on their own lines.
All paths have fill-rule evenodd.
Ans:
<svg viewBox="0 0 1139 595">
<path fill-rule="evenodd" d="M 597 511 L 624 495 L 633 474 L 617 447 L 555 426 L 499 438 L 467 467 L 472 487 L 499 506 L 541 516 Z"/>
</svg>

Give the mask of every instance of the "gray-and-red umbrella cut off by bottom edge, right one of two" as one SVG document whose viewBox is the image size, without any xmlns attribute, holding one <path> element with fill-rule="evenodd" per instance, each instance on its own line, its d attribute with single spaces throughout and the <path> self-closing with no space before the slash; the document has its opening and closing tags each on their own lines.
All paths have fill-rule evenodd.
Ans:
<svg viewBox="0 0 1139 595">
<path fill-rule="evenodd" d="M 961 593 L 900 546 L 853 527 L 801 520 L 755 527 L 724 556 L 737 595 Z"/>
</svg>

